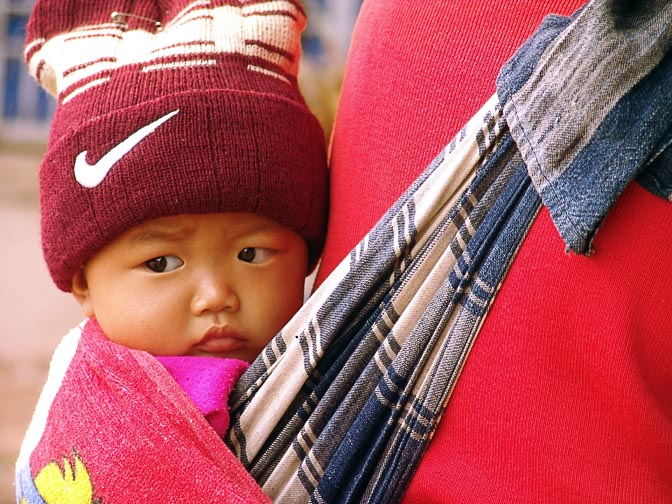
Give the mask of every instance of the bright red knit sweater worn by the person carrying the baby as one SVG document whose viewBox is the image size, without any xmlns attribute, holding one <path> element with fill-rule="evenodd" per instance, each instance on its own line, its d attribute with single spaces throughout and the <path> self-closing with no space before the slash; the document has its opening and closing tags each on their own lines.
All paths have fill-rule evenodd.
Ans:
<svg viewBox="0 0 672 504">
<path fill-rule="evenodd" d="M 581 0 L 365 0 L 331 146 L 318 282 Z M 672 205 L 633 183 L 564 252 L 542 210 L 406 502 L 672 502 Z"/>
</svg>

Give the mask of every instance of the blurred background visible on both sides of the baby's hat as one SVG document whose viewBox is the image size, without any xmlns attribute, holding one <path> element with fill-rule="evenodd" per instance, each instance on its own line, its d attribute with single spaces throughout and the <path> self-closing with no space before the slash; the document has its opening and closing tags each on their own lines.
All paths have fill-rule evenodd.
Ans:
<svg viewBox="0 0 672 504">
<path fill-rule="evenodd" d="M 299 82 L 327 135 L 361 2 L 303 0 Z M 40 248 L 37 173 L 55 102 L 23 62 L 33 3 L 0 0 L 0 504 L 15 501 L 14 461 L 51 353 L 81 320 L 79 305 L 51 282 Z"/>
</svg>

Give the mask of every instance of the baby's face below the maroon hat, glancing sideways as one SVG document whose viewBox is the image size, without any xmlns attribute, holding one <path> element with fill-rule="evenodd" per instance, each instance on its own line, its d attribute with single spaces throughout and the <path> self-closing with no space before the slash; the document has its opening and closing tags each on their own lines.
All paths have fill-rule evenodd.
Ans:
<svg viewBox="0 0 672 504">
<path fill-rule="evenodd" d="M 260 215 L 165 217 L 98 251 L 73 294 L 122 345 L 252 361 L 300 308 L 307 257 L 299 234 Z"/>
</svg>

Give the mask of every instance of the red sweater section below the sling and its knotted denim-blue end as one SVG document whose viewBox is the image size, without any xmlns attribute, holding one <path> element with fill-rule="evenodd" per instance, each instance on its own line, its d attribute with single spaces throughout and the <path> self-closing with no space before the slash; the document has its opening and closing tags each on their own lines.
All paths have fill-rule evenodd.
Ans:
<svg viewBox="0 0 672 504">
<path fill-rule="evenodd" d="M 591 257 L 542 211 L 406 502 L 671 502 L 670 232 L 637 184 Z"/>
</svg>

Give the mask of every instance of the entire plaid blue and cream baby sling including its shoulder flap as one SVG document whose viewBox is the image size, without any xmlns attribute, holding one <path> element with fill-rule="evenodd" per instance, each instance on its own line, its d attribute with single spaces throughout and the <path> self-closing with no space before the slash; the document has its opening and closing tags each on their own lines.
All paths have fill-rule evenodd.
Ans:
<svg viewBox="0 0 672 504">
<path fill-rule="evenodd" d="M 238 383 L 227 443 L 271 499 L 399 500 L 542 202 L 589 253 L 630 181 L 669 198 L 672 6 L 617 4 L 549 16 Z"/>
</svg>

